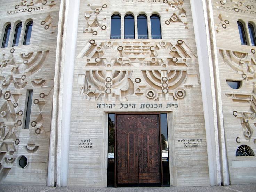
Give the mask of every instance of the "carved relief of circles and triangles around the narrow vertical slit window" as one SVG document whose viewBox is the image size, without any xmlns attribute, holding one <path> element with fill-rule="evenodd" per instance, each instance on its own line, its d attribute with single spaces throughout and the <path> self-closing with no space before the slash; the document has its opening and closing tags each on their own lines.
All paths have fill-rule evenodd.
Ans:
<svg viewBox="0 0 256 192">
<path fill-rule="evenodd" d="M 16 53 L 11 49 L 3 53 L 0 61 L 0 181 L 16 166 L 18 148 L 27 153 L 36 153 L 40 148 L 39 138 L 49 139 L 53 96 L 53 80 L 37 78 L 48 50 Z M 33 90 L 29 139 L 20 137 L 24 130 L 24 105 L 27 90 Z M 38 137 L 38 138 L 37 138 Z M 37 138 L 37 139 L 35 139 Z M 29 142 L 31 141 L 31 142 Z M 36 143 L 34 143 L 37 141 Z M 27 142 L 27 143 L 26 143 Z M 20 146 L 22 145 L 22 146 Z"/>
</svg>

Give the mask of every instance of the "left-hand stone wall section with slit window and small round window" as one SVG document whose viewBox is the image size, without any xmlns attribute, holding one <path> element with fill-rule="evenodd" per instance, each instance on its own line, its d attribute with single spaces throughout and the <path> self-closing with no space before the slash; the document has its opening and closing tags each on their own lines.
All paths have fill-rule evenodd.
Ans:
<svg viewBox="0 0 256 192">
<path fill-rule="evenodd" d="M 1 45 L 6 24 L 12 25 L 8 47 L 0 48 L 0 181 L 46 185 L 60 0 L 0 4 Z M 30 45 L 22 45 L 30 20 Z M 19 46 L 11 47 L 19 22 Z M 32 110 L 24 129 L 28 90 L 33 90 Z M 28 160 L 23 169 L 22 155 Z"/>
</svg>

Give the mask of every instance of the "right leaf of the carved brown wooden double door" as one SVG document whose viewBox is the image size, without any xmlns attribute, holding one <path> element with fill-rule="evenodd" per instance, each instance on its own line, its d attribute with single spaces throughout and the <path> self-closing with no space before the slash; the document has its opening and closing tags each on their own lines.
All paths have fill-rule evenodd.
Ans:
<svg viewBox="0 0 256 192">
<path fill-rule="evenodd" d="M 158 115 L 138 116 L 139 183 L 160 183 Z"/>
</svg>

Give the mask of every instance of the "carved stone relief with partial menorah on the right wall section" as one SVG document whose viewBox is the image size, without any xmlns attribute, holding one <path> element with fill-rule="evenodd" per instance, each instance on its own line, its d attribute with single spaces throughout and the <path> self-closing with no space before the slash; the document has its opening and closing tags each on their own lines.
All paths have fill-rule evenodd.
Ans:
<svg viewBox="0 0 256 192">
<path fill-rule="evenodd" d="M 251 94 L 234 94 L 226 93 L 226 96 L 231 98 L 233 102 L 248 103 L 248 111 L 233 111 L 233 115 L 237 117 L 241 123 L 242 133 L 241 137 L 250 141 L 256 126 L 256 57 L 255 51 L 252 49 L 250 52 L 238 52 L 230 50 L 220 50 L 223 60 L 234 73 L 240 74 L 242 81 L 249 81 Z"/>
</svg>

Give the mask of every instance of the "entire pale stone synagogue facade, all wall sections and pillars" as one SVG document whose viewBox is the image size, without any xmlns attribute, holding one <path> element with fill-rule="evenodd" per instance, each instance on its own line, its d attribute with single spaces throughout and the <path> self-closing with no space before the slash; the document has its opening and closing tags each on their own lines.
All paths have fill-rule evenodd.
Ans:
<svg viewBox="0 0 256 192">
<path fill-rule="evenodd" d="M 11 31 L 0 48 L 0 182 L 107 187 L 108 114 L 167 113 L 170 185 L 254 183 L 256 48 L 247 23 L 255 27 L 255 8 L 254 0 L 2 3 L 1 43 L 8 24 Z M 110 38 L 113 14 L 121 16 L 121 39 Z M 134 39 L 124 38 L 126 14 L 135 18 Z M 139 14 L 148 39 L 138 38 Z M 153 14 L 161 39 L 151 35 Z M 30 45 L 22 45 L 29 21 Z M 236 156 L 241 145 L 254 155 Z"/>
</svg>

